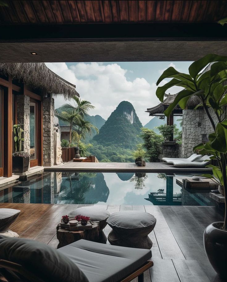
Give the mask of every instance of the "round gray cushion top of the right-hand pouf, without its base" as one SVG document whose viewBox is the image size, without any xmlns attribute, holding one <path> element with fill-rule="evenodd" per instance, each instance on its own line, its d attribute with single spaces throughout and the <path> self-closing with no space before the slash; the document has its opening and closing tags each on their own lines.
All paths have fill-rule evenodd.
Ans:
<svg viewBox="0 0 227 282">
<path fill-rule="evenodd" d="M 117 233 L 146 236 L 153 230 L 156 218 L 147 212 L 126 210 L 112 213 L 107 223 Z"/>
</svg>

